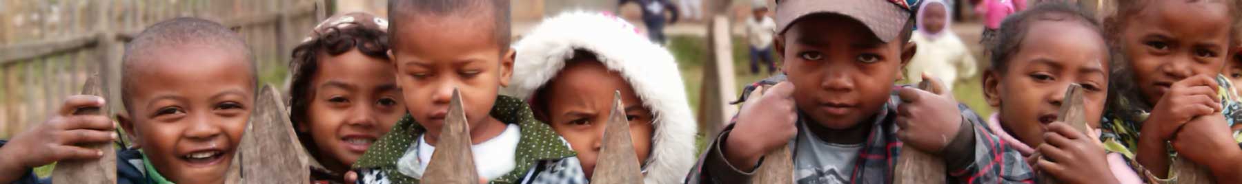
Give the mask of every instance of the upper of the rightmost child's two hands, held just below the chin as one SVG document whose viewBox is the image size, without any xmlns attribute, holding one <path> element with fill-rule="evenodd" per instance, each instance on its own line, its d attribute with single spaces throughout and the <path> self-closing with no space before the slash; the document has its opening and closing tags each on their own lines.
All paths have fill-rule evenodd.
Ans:
<svg viewBox="0 0 1242 184">
<path fill-rule="evenodd" d="M 1151 109 L 1151 114 L 1143 122 L 1143 130 L 1139 135 L 1156 138 L 1150 140 L 1155 142 L 1169 141 L 1174 132 L 1190 119 L 1221 111 L 1221 99 L 1216 98 L 1216 80 L 1207 74 L 1174 83 Z"/>
</svg>

